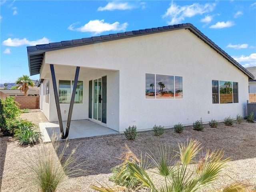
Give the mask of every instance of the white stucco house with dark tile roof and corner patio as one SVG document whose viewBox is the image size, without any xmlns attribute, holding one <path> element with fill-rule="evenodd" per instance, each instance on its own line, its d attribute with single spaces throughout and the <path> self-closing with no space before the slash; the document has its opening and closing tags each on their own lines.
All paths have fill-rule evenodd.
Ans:
<svg viewBox="0 0 256 192">
<path fill-rule="evenodd" d="M 245 116 L 248 80 L 254 79 L 190 23 L 27 51 L 30 75 L 40 74 L 40 108 L 50 122 L 88 119 L 118 132 Z"/>
</svg>

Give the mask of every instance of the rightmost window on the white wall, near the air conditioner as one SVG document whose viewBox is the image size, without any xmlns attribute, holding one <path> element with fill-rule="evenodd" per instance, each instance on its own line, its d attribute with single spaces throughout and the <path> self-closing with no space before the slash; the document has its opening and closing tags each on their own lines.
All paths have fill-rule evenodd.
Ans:
<svg viewBox="0 0 256 192">
<path fill-rule="evenodd" d="M 238 82 L 212 80 L 212 103 L 238 103 Z"/>
</svg>

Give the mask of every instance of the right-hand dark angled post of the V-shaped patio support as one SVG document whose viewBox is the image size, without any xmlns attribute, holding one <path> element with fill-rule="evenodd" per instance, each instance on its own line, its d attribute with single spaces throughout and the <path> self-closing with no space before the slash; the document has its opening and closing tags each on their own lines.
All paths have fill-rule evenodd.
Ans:
<svg viewBox="0 0 256 192">
<path fill-rule="evenodd" d="M 75 101 L 76 86 L 77 86 L 77 82 L 78 82 L 79 70 L 80 70 L 80 67 L 76 67 L 76 75 L 75 75 L 74 86 L 73 86 L 73 91 L 72 91 L 72 96 L 71 96 L 71 101 L 70 101 L 70 106 L 69 106 L 69 111 L 68 111 L 68 122 L 67 122 L 66 133 L 65 133 L 64 138 L 68 137 L 68 132 L 69 132 L 69 128 L 70 128 L 70 122 L 71 122 L 74 101 Z"/>
</svg>

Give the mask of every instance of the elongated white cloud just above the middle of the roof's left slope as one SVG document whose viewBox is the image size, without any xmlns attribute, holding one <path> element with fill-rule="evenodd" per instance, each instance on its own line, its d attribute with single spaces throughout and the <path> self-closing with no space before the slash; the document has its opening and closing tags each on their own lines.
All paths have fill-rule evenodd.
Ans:
<svg viewBox="0 0 256 192">
<path fill-rule="evenodd" d="M 104 19 L 102 20 L 90 20 L 87 24 L 84 26 L 81 26 L 79 28 L 74 28 L 74 24 L 71 24 L 68 26 L 69 30 L 72 31 L 80 31 L 80 32 L 92 32 L 95 35 L 100 34 L 105 31 L 124 31 L 126 30 L 126 27 L 128 26 L 128 23 L 125 22 L 123 24 L 120 24 L 119 22 L 114 22 L 112 24 L 104 22 Z"/>
</svg>

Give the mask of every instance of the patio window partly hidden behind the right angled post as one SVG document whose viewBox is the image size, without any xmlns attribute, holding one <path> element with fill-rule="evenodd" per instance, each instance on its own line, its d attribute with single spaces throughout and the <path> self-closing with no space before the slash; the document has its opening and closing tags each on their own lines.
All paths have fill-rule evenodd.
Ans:
<svg viewBox="0 0 256 192">
<path fill-rule="evenodd" d="M 59 102 L 70 103 L 74 81 L 59 80 Z M 78 81 L 74 103 L 83 103 L 83 82 Z"/>
</svg>

